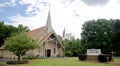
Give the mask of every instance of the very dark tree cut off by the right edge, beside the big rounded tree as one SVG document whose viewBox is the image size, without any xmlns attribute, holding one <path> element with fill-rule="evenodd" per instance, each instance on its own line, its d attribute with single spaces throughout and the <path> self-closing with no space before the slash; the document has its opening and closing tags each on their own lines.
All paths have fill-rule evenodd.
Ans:
<svg viewBox="0 0 120 66">
<path fill-rule="evenodd" d="M 113 37 L 111 48 L 120 55 L 120 20 L 111 20 L 113 23 Z"/>
</svg>

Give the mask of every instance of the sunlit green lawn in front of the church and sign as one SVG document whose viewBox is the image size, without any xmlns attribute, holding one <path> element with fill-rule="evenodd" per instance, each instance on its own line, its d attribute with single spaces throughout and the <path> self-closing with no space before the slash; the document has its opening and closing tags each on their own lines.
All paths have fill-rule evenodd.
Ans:
<svg viewBox="0 0 120 66">
<path fill-rule="evenodd" d="M 115 58 L 115 61 L 120 62 L 120 58 Z M 35 59 L 30 60 L 28 64 L 7 65 L 7 66 L 120 66 L 108 63 L 95 63 L 79 61 L 78 58 L 54 58 L 54 59 Z"/>
</svg>

